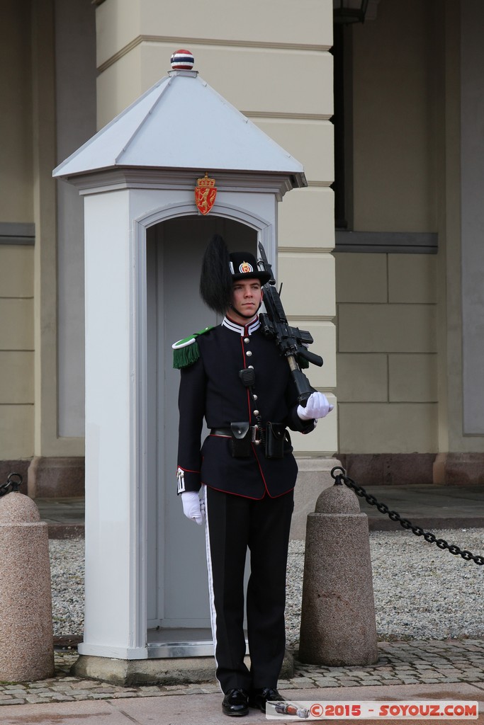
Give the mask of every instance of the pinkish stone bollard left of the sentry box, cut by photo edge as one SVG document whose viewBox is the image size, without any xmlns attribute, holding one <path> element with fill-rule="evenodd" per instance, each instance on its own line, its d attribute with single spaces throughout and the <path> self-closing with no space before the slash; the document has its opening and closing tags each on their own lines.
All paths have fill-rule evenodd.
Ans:
<svg viewBox="0 0 484 725">
<path fill-rule="evenodd" d="M 28 496 L 0 497 L 0 681 L 54 675 L 47 524 Z"/>
</svg>

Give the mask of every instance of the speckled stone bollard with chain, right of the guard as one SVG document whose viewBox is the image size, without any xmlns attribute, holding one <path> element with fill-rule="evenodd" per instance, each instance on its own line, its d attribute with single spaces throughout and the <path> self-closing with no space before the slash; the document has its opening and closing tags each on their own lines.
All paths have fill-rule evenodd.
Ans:
<svg viewBox="0 0 484 725">
<path fill-rule="evenodd" d="M 299 659 L 333 667 L 378 659 L 368 518 L 343 484 L 325 489 L 308 515 Z"/>
</svg>

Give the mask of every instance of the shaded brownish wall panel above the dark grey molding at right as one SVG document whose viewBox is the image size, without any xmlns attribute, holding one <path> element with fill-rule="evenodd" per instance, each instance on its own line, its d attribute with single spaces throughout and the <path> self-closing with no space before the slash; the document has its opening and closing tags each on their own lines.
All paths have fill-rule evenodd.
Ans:
<svg viewBox="0 0 484 725">
<path fill-rule="evenodd" d="M 358 231 L 436 231 L 435 20 L 433 1 L 383 1 L 353 28 Z"/>
</svg>

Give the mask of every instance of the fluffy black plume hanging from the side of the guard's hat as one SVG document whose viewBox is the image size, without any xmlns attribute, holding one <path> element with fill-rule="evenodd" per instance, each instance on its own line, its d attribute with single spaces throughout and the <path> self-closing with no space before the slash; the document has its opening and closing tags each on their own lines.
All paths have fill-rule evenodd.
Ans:
<svg viewBox="0 0 484 725">
<path fill-rule="evenodd" d="M 205 305 L 225 315 L 232 299 L 229 249 L 220 234 L 214 234 L 205 249 L 200 274 L 200 295 Z"/>
</svg>

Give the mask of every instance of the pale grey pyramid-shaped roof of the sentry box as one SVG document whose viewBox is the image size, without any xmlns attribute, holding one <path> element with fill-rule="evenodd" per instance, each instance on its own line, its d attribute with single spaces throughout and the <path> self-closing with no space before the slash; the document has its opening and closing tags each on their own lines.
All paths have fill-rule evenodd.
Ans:
<svg viewBox="0 0 484 725">
<path fill-rule="evenodd" d="M 173 56 L 174 57 L 174 56 Z M 155 83 L 54 169 L 66 180 L 121 168 L 270 173 L 306 186 L 303 166 L 194 70 Z"/>
</svg>

